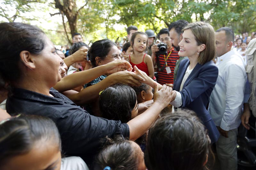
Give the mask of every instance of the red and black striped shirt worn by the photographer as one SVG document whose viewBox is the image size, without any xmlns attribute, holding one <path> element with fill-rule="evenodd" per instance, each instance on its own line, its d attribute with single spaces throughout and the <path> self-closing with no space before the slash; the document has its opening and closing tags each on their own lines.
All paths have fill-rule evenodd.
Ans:
<svg viewBox="0 0 256 170">
<path fill-rule="evenodd" d="M 174 73 L 175 63 L 176 63 L 176 60 L 179 58 L 179 55 L 178 55 L 179 51 L 173 51 L 173 50 L 174 48 L 172 48 L 167 53 L 169 55 L 169 53 L 172 51 L 172 53 L 167 59 L 167 67 L 169 66 L 172 72 L 167 74 L 165 69 L 163 71 L 157 70 L 157 73 L 158 73 L 157 82 L 161 85 L 164 85 L 165 83 L 173 84 L 173 73 Z M 165 55 L 165 59 L 167 58 L 168 55 Z M 162 68 L 163 65 L 165 65 L 164 55 L 159 55 L 158 58 L 159 58 L 160 68 Z"/>
</svg>

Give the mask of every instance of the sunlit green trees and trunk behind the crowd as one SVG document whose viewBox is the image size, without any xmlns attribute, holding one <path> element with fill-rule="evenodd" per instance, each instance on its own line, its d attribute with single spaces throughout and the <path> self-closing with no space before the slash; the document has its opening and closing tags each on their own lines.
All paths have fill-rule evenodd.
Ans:
<svg viewBox="0 0 256 170">
<path fill-rule="evenodd" d="M 40 8 L 42 2 L 49 3 L 46 0 L 2 0 L 0 18 L 5 20 L 0 19 L 0 22 L 13 22 L 17 18 L 26 23 L 37 20 L 24 14 Z M 152 29 L 158 33 L 178 19 L 206 21 L 215 29 L 228 26 L 235 33 L 256 30 L 255 0 L 51 0 L 49 6 L 56 11 L 40 10 L 51 16 L 58 15 L 60 23 L 52 28 L 55 31 L 42 29 L 58 39 L 54 40 L 56 43 L 71 42 L 74 32 L 82 33 L 88 42 L 102 38 L 121 41 L 130 25 L 138 26 L 140 31 Z"/>
</svg>

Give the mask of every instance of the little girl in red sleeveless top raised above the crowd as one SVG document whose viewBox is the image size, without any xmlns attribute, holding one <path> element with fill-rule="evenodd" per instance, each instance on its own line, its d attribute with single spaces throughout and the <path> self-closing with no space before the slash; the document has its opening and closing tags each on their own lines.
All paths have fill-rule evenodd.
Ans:
<svg viewBox="0 0 256 170">
<path fill-rule="evenodd" d="M 132 34 L 131 46 L 133 48 L 133 54 L 129 55 L 129 61 L 134 67 L 136 65 L 138 69 L 144 71 L 150 78 L 154 78 L 154 66 L 150 55 L 147 55 L 144 51 L 147 47 L 148 35 L 143 32 L 136 32 Z M 133 70 L 132 70 L 133 71 Z"/>
</svg>

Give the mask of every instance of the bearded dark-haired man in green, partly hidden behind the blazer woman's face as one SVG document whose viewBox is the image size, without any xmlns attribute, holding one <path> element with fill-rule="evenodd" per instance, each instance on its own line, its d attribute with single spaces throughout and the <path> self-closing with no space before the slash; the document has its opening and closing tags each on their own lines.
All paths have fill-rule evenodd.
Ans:
<svg viewBox="0 0 256 170">
<path fill-rule="evenodd" d="M 177 52 L 180 51 L 179 43 L 182 40 L 182 32 L 183 32 L 182 29 L 187 25 L 188 25 L 188 21 L 183 19 L 177 20 L 170 24 L 169 34 L 171 38 L 172 47 L 174 47 L 174 51 L 177 51 Z M 173 70 L 173 82 L 176 80 L 181 60 L 188 58 L 187 56 L 177 56 L 177 57 L 178 58 L 176 59 L 175 67 Z"/>
</svg>

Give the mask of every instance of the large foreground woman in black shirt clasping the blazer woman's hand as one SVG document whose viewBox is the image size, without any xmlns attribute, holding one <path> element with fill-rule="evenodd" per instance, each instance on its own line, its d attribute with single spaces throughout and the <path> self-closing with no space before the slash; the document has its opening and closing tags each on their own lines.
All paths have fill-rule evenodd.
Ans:
<svg viewBox="0 0 256 170">
<path fill-rule="evenodd" d="M 11 89 L 6 102 L 7 112 L 51 118 L 60 131 L 64 152 L 82 157 L 87 164 L 92 163 L 98 152 L 100 138 L 122 134 L 136 140 L 173 97 L 170 87 L 158 90 L 156 86 L 154 103 L 127 123 L 92 116 L 52 88 L 61 79 L 60 58 L 42 30 L 23 23 L 0 23 L 0 44 L 0 77 Z"/>
</svg>

